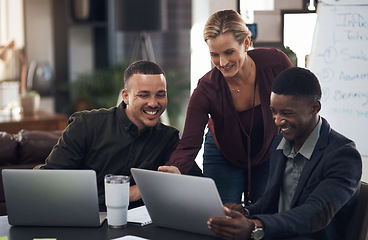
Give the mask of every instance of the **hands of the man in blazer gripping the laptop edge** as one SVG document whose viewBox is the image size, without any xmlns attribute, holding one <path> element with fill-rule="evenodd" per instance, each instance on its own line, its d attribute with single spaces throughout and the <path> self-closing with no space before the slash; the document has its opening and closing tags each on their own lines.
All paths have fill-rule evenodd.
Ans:
<svg viewBox="0 0 368 240">
<path fill-rule="evenodd" d="M 208 228 L 222 239 L 250 239 L 254 223 L 240 212 L 230 210 L 224 206 L 228 217 L 212 217 L 208 220 Z"/>
</svg>

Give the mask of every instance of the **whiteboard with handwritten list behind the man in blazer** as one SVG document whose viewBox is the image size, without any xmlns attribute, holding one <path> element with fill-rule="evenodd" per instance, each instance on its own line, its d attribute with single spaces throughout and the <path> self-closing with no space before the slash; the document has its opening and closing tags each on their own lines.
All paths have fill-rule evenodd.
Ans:
<svg viewBox="0 0 368 240">
<path fill-rule="evenodd" d="M 367 156 L 368 0 L 333 3 L 318 5 L 307 68 L 321 83 L 321 116 Z"/>
</svg>

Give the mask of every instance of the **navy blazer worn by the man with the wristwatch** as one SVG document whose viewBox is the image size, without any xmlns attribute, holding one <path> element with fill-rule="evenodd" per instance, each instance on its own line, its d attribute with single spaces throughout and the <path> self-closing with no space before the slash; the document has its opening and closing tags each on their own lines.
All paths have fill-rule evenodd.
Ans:
<svg viewBox="0 0 368 240">
<path fill-rule="evenodd" d="M 287 158 L 271 145 L 270 176 L 264 195 L 249 206 L 251 218 L 265 225 L 265 239 L 303 235 L 312 239 L 344 239 L 359 194 L 362 161 L 353 141 L 322 118 L 320 137 L 300 176 L 291 209 L 278 213 L 280 186 Z"/>
</svg>

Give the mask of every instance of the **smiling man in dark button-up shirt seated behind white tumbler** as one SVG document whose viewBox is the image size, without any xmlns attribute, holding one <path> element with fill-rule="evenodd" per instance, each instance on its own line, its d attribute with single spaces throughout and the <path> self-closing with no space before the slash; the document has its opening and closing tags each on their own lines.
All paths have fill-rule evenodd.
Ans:
<svg viewBox="0 0 368 240">
<path fill-rule="evenodd" d="M 179 141 L 177 129 L 159 122 L 167 106 L 161 67 L 150 61 L 131 64 L 124 73 L 122 96 L 117 107 L 74 113 L 42 167 L 95 170 L 100 204 L 106 174 L 130 176 L 132 167 L 156 170 L 169 160 Z M 139 199 L 131 178 L 131 205 Z"/>
</svg>

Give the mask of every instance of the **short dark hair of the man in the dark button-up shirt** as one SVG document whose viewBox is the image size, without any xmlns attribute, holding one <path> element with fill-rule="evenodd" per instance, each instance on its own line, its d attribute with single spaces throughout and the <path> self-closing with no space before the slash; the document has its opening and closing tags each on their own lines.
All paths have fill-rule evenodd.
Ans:
<svg viewBox="0 0 368 240">
<path fill-rule="evenodd" d="M 134 74 L 156 75 L 163 74 L 166 77 L 164 70 L 154 62 L 140 60 L 130 64 L 124 72 L 124 86 L 127 86 L 129 79 Z"/>
</svg>

